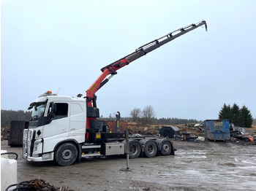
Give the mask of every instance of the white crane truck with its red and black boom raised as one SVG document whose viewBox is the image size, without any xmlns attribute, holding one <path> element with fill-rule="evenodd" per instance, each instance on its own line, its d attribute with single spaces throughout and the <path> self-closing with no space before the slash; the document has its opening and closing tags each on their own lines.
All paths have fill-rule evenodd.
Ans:
<svg viewBox="0 0 256 191">
<path fill-rule="evenodd" d="M 81 157 L 124 155 L 125 135 L 118 130 L 110 132 L 108 125 L 99 120 L 95 93 L 117 74 L 118 69 L 200 26 L 207 30 L 204 20 L 179 28 L 103 67 L 102 74 L 86 90 L 84 97 L 82 94 L 77 97 L 57 95 L 50 91 L 39 95 L 28 108 L 32 114 L 29 127 L 23 130 L 23 158 L 72 165 Z M 129 158 L 174 155 L 174 149 L 170 139 L 129 139 Z"/>
</svg>

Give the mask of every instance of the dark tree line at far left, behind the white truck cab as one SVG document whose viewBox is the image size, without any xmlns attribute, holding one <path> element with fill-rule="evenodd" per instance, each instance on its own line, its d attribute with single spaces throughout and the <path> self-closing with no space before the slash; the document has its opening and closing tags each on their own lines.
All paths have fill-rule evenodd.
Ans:
<svg viewBox="0 0 256 191">
<path fill-rule="evenodd" d="M 12 120 L 30 120 L 31 111 L 24 112 L 23 110 L 4 110 L 1 109 L 1 128 L 5 128 L 10 125 Z"/>
</svg>

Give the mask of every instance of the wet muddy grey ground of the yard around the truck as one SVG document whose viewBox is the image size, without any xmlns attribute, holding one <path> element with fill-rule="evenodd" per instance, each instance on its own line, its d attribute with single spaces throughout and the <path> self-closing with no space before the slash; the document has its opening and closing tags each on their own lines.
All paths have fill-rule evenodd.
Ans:
<svg viewBox="0 0 256 191">
<path fill-rule="evenodd" d="M 44 179 L 72 190 L 256 190 L 256 145 L 229 142 L 176 141 L 176 155 L 129 160 L 122 157 L 83 159 L 71 166 L 53 162 L 29 163 L 21 147 L 1 149 L 18 153 L 18 182 Z"/>
</svg>

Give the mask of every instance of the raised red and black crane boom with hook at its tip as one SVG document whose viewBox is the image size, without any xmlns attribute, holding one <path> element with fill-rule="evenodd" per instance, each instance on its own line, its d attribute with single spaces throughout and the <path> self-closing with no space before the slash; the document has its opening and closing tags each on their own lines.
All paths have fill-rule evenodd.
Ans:
<svg viewBox="0 0 256 191">
<path fill-rule="evenodd" d="M 113 63 L 110 63 L 108 66 L 105 66 L 101 69 L 102 74 L 95 80 L 95 82 L 86 90 L 86 101 L 89 107 L 97 107 L 96 106 L 96 95 L 95 93 L 99 90 L 100 87 L 105 85 L 108 80 L 113 77 L 113 75 L 117 74 L 117 70 L 121 69 L 124 66 L 127 66 L 132 61 L 137 60 L 138 58 L 146 55 L 148 52 L 155 50 L 167 42 L 172 41 L 173 39 L 178 38 L 179 36 L 186 34 L 189 31 L 194 30 L 200 26 L 205 26 L 207 31 L 207 24 L 205 20 L 200 21 L 196 24 L 191 24 L 189 26 L 185 26 L 184 28 L 179 28 L 176 31 L 170 32 L 169 34 L 160 37 L 159 39 L 155 39 L 154 41 L 148 42 L 143 46 L 139 47 L 132 52 L 131 54 L 125 56 L 124 58 L 119 59 Z M 110 75 L 110 77 L 108 77 Z M 108 78 L 107 78 L 108 77 Z"/>
</svg>

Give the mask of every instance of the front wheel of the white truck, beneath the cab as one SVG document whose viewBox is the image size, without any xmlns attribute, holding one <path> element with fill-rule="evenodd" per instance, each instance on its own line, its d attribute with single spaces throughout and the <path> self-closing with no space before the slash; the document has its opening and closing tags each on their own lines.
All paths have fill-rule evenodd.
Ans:
<svg viewBox="0 0 256 191">
<path fill-rule="evenodd" d="M 55 152 L 54 159 L 58 165 L 72 165 L 78 157 L 78 149 L 72 143 L 61 144 Z"/>
</svg>

